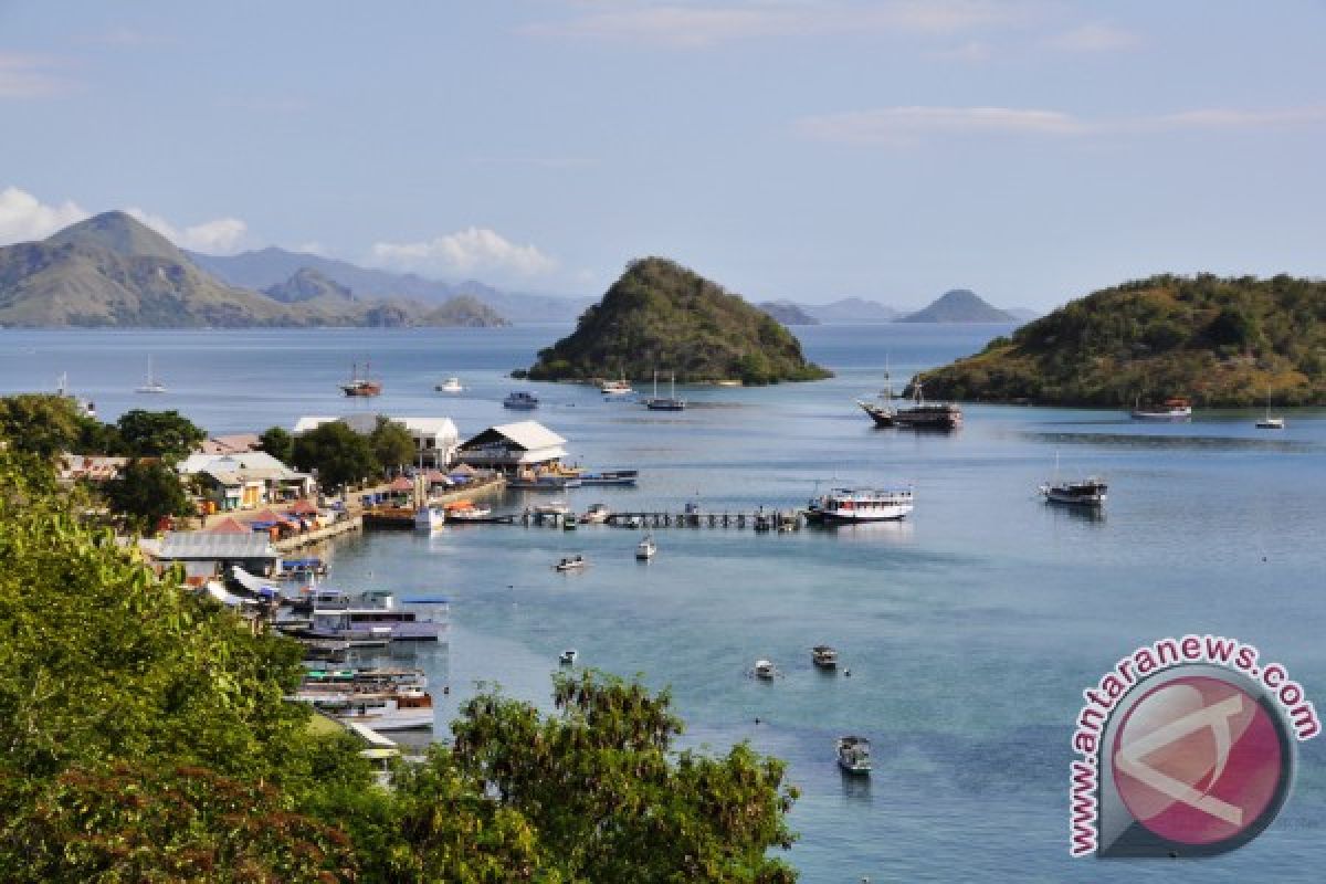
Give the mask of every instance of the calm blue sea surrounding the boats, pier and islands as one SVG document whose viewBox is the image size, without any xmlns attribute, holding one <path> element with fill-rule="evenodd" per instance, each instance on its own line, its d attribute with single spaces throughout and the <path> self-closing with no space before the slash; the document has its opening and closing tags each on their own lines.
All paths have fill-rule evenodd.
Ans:
<svg viewBox="0 0 1326 884">
<path fill-rule="evenodd" d="M 1009 331 L 994 325 L 798 327 L 833 379 L 679 387 L 683 412 L 508 376 L 568 330 L 8 329 L 0 391 L 52 391 L 64 374 L 105 420 L 174 408 L 212 433 L 357 410 L 450 416 L 463 437 L 530 417 L 587 468 L 640 470 L 634 489 L 568 492 L 579 512 L 749 512 L 908 484 L 916 509 L 900 524 L 663 527 L 648 563 L 631 530 L 518 524 L 367 533 L 322 554 L 329 586 L 450 598 L 446 645 L 394 652 L 428 669 L 435 693 L 447 687 L 438 738 L 480 685 L 550 708 L 558 655 L 575 648 L 578 665 L 668 688 L 682 745 L 748 741 L 785 759 L 801 793 L 785 856 L 805 881 L 1321 880 L 1326 740 L 1298 746 L 1268 831 L 1204 860 L 1070 859 L 1069 765 L 1083 689 L 1166 636 L 1250 643 L 1326 701 L 1326 412 L 1289 410 L 1286 429 L 1261 431 L 1260 410 L 1148 424 L 1119 410 L 977 404 L 961 429 L 920 433 L 875 429 L 857 407 L 886 370 L 896 383 L 979 351 Z M 163 395 L 134 394 L 149 357 Z M 381 398 L 339 395 L 351 363 L 371 363 Z M 434 391 L 452 375 L 463 394 Z M 501 407 L 516 388 L 542 399 L 537 412 Z M 1055 473 L 1105 477 L 1103 512 L 1045 504 L 1036 489 Z M 587 569 L 554 571 L 575 553 Z M 837 675 L 812 667 L 815 644 L 839 649 Z M 751 677 L 761 657 L 781 671 L 772 683 Z M 834 763 L 849 733 L 873 741 L 869 778 Z"/>
</svg>

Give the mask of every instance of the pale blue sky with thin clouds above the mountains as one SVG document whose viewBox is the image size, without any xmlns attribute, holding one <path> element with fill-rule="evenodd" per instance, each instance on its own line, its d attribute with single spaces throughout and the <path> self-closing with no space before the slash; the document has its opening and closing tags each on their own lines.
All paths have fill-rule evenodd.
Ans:
<svg viewBox="0 0 1326 884">
<path fill-rule="evenodd" d="M 131 211 L 599 294 L 1321 276 L 1326 3 L 0 0 L 0 244 Z"/>
</svg>

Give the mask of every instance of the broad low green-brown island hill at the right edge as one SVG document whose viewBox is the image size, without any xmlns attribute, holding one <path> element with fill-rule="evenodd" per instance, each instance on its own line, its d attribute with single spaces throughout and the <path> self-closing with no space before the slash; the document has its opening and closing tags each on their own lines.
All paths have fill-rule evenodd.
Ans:
<svg viewBox="0 0 1326 884">
<path fill-rule="evenodd" d="M 1071 301 L 926 375 L 935 398 L 1326 404 L 1326 282 L 1155 276 Z"/>
</svg>

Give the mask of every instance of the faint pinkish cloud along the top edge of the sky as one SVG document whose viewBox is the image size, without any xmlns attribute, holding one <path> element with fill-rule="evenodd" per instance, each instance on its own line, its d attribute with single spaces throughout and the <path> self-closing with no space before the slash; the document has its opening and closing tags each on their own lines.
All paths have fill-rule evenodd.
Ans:
<svg viewBox="0 0 1326 884">
<path fill-rule="evenodd" d="M 727 0 L 621 3 L 557 23 L 532 25 L 549 37 L 629 40 L 672 48 L 732 40 L 899 32 L 948 34 L 1021 16 L 1021 4 L 991 0 Z"/>
</svg>

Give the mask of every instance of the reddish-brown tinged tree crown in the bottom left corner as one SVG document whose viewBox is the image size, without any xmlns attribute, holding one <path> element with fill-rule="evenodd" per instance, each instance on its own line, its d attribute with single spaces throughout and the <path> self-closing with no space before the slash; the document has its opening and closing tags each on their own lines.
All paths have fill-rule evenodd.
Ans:
<svg viewBox="0 0 1326 884">
<path fill-rule="evenodd" d="M 0 767 L 0 876 L 15 884 L 351 880 L 337 828 L 286 807 L 269 786 L 206 767 L 76 765 L 53 779 Z"/>
</svg>

